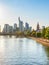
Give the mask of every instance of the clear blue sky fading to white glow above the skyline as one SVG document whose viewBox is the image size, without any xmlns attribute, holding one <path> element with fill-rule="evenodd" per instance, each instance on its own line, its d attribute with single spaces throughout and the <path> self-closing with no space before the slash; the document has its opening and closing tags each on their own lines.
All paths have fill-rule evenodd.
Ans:
<svg viewBox="0 0 49 65">
<path fill-rule="evenodd" d="M 0 0 L 0 25 L 19 24 L 18 17 L 32 28 L 49 26 L 49 0 Z"/>
</svg>

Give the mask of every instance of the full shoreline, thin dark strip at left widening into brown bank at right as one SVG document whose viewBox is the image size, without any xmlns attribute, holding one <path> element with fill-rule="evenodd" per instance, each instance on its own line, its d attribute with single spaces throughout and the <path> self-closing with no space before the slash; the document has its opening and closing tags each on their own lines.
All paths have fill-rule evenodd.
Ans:
<svg viewBox="0 0 49 65">
<path fill-rule="evenodd" d="M 29 37 L 29 36 L 23 36 L 23 35 L 19 35 L 19 36 L 17 36 L 17 35 L 1 35 L 1 36 L 10 36 L 10 37 L 16 36 L 17 38 L 26 37 L 26 38 L 30 38 L 32 40 L 35 40 L 36 42 L 39 42 L 39 44 L 42 44 L 44 46 L 49 47 L 49 40 L 48 39 L 44 39 L 44 38 Z"/>
</svg>

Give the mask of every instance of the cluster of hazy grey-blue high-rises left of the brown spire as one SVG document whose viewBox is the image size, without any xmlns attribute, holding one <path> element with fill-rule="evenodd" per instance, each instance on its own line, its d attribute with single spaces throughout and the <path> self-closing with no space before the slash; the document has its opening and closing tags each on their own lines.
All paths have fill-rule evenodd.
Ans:
<svg viewBox="0 0 49 65">
<path fill-rule="evenodd" d="M 24 31 L 32 31 L 32 27 L 29 25 L 29 23 L 24 23 L 23 21 L 20 19 L 20 17 L 18 17 L 18 21 L 19 21 L 19 26 L 17 26 L 17 23 L 14 23 L 13 26 L 9 25 L 9 24 L 4 24 L 3 30 L 1 31 L 1 26 L 0 26 L 0 32 L 3 33 L 15 33 L 15 32 L 24 32 Z"/>
</svg>

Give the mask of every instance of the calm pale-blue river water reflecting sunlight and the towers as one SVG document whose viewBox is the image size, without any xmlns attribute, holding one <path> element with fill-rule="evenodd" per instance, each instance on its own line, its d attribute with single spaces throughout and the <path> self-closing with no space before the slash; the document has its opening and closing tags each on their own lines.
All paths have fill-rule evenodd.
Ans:
<svg viewBox="0 0 49 65">
<path fill-rule="evenodd" d="M 2 36 L 0 65 L 49 65 L 49 48 L 32 39 Z"/>
</svg>

